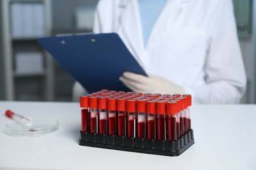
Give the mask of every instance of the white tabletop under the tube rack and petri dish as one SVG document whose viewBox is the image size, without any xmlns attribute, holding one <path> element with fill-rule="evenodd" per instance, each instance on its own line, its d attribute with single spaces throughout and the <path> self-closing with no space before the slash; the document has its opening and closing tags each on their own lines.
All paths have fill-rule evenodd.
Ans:
<svg viewBox="0 0 256 170">
<path fill-rule="evenodd" d="M 59 120 L 43 137 L 5 134 L 6 109 Z M 78 103 L 0 102 L 0 169 L 256 169 L 256 105 L 192 106 L 195 144 L 168 157 L 79 146 Z"/>
</svg>

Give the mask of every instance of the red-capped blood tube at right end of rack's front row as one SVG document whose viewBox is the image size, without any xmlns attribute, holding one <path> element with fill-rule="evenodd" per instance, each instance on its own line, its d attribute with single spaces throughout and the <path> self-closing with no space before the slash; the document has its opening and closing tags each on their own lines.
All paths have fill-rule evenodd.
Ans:
<svg viewBox="0 0 256 170">
<path fill-rule="evenodd" d="M 167 102 L 168 141 L 177 141 L 176 101 Z"/>
</svg>

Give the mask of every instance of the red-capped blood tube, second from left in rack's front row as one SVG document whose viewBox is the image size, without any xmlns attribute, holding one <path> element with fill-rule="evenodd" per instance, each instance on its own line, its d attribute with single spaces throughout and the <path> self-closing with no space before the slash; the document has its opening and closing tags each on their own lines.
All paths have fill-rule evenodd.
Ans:
<svg viewBox="0 0 256 170">
<path fill-rule="evenodd" d="M 89 98 L 89 107 L 90 107 L 90 132 L 98 133 L 98 97 Z"/>
</svg>

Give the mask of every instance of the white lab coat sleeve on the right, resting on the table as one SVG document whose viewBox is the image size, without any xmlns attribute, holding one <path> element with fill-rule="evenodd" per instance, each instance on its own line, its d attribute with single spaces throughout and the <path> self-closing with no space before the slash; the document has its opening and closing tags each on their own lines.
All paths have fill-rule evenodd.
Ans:
<svg viewBox="0 0 256 170">
<path fill-rule="evenodd" d="M 232 1 L 221 1 L 205 63 L 204 86 L 184 87 L 193 103 L 239 103 L 246 76 L 234 20 Z"/>
</svg>

